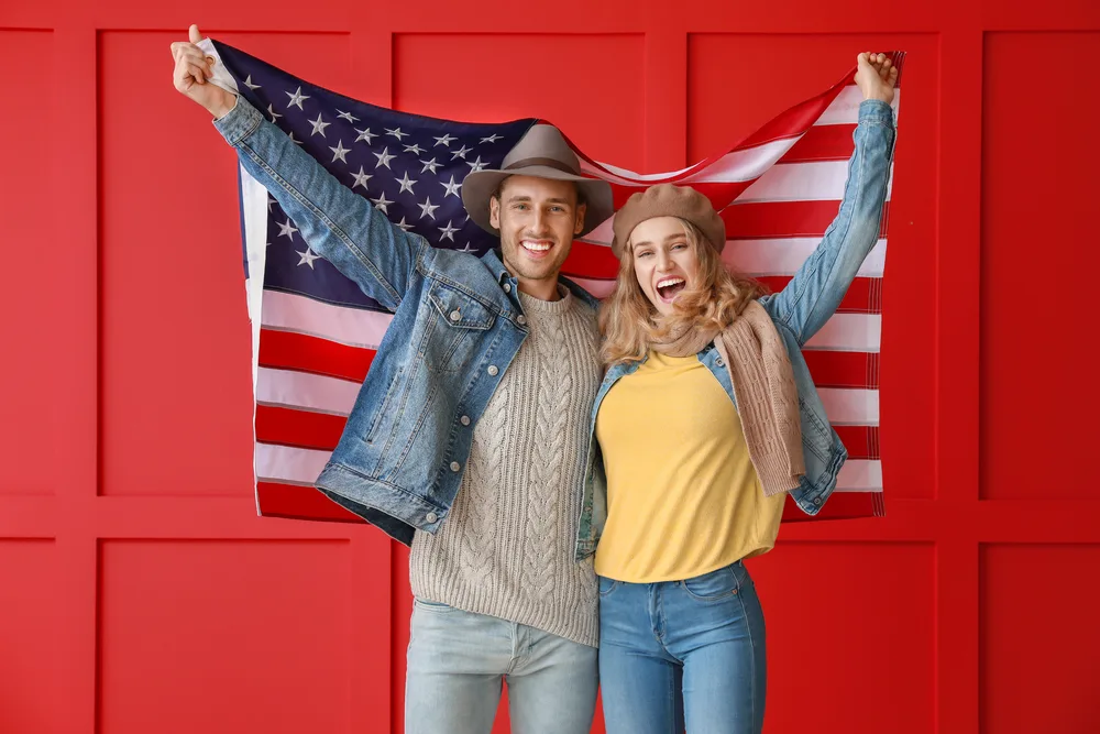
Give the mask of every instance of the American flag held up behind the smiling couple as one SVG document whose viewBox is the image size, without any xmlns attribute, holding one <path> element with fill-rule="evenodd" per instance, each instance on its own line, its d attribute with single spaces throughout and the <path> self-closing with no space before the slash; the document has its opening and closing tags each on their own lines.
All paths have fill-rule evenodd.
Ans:
<svg viewBox="0 0 1100 734">
<path fill-rule="evenodd" d="M 394 224 L 435 247 L 482 254 L 495 238 L 462 207 L 466 174 L 498 167 L 536 119 L 439 120 L 356 101 L 215 41 L 215 83 L 238 91 Z M 904 54 L 891 54 L 899 67 Z M 855 69 L 739 144 L 688 168 L 639 175 L 573 145 L 582 168 L 612 184 L 615 206 L 658 183 L 703 191 L 726 222 L 730 267 L 781 289 L 839 209 L 862 99 Z M 894 109 L 901 98 L 900 80 Z M 570 143 L 572 145 L 572 143 Z M 241 168 L 241 227 L 253 325 L 255 490 L 261 515 L 363 522 L 312 487 L 336 448 L 391 314 L 316 255 L 275 199 Z M 839 311 L 804 350 L 829 419 L 849 452 L 814 518 L 788 499 L 783 519 L 884 512 L 879 456 L 879 338 L 888 202 L 880 239 Z M 573 244 L 563 274 L 610 293 L 617 261 L 608 219 Z"/>
</svg>

